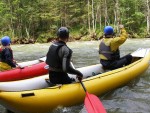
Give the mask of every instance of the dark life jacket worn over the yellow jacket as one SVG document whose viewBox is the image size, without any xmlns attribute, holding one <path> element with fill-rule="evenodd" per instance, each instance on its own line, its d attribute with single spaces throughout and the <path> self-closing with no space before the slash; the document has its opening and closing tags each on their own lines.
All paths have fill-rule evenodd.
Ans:
<svg viewBox="0 0 150 113">
<path fill-rule="evenodd" d="M 119 49 L 115 52 L 111 51 L 110 45 L 106 45 L 104 40 L 99 45 L 99 54 L 107 58 L 107 60 L 118 60 L 120 58 Z"/>
</svg>

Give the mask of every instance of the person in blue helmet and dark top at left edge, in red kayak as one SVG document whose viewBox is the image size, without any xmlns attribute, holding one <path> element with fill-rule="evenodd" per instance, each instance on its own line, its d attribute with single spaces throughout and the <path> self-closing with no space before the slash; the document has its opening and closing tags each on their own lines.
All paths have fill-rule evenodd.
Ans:
<svg viewBox="0 0 150 113">
<path fill-rule="evenodd" d="M 1 61 L 0 61 L 0 71 L 10 70 L 16 67 L 16 63 L 13 61 L 13 51 L 10 47 L 10 38 L 4 36 L 1 39 Z"/>
</svg>

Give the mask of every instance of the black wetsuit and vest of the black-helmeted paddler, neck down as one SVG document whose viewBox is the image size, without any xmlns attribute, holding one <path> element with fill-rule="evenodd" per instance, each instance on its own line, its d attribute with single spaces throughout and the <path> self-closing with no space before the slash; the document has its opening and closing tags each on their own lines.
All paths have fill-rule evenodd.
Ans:
<svg viewBox="0 0 150 113">
<path fill-rule="evenodd" d="M 67 73 L 83 76 L 71 64 L 72 50 L 63 41 L 53 43 L 47 53 L 46 63 L 50 67 L 49 78 L 53 84 L 68 84 L 74 81 Z"/>
</svg>

